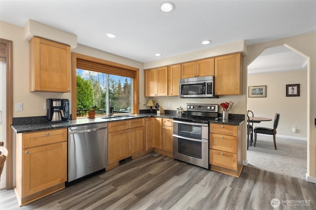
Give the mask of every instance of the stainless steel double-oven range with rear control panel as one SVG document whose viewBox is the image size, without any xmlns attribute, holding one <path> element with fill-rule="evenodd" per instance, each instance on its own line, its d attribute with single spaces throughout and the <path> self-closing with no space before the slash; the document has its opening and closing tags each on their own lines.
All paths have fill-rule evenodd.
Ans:
<svg viewBox="0 0 316 210">
<path fill-rule="evenodd" d="M 186 115 L 173 119 L 173 158 L 209 169 L 209 120 L 217 104 L 187 104 Z"/>
</svg>

